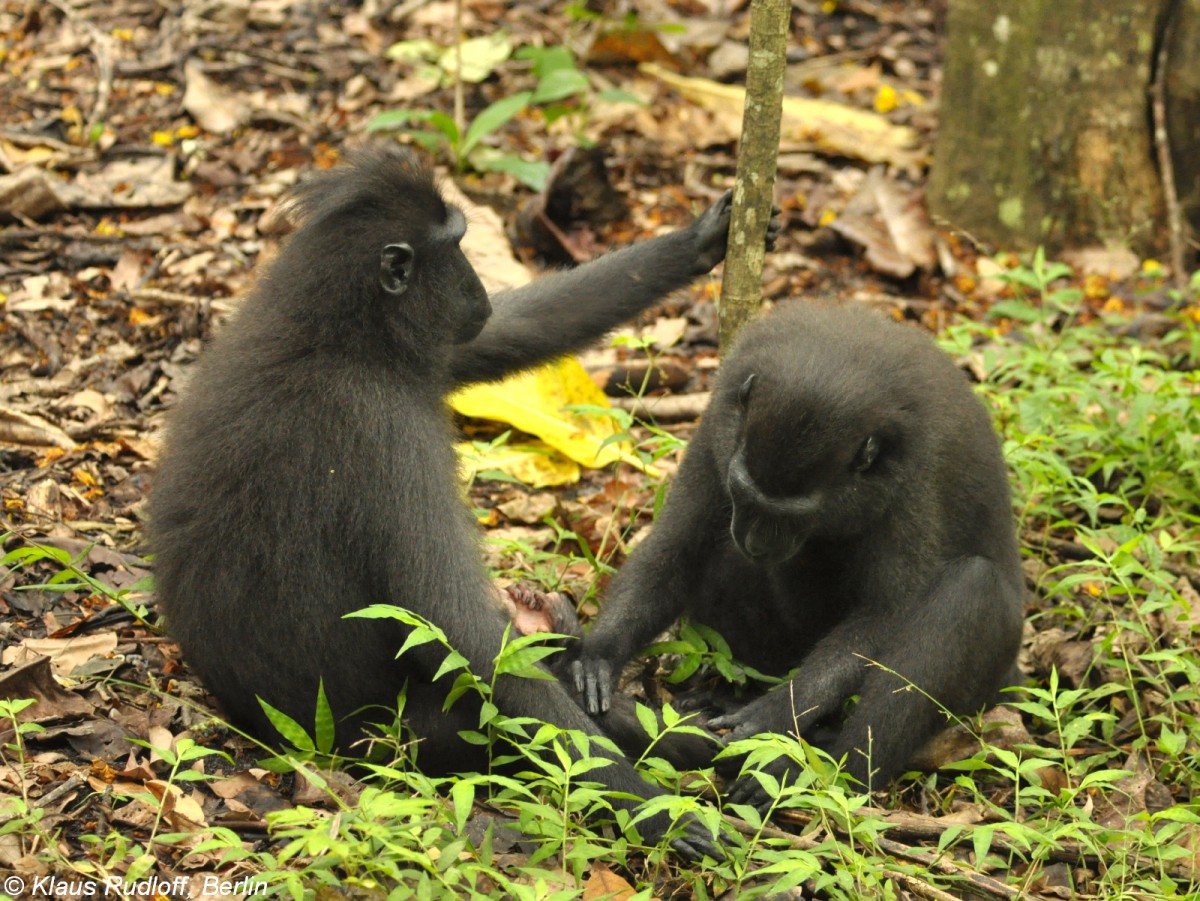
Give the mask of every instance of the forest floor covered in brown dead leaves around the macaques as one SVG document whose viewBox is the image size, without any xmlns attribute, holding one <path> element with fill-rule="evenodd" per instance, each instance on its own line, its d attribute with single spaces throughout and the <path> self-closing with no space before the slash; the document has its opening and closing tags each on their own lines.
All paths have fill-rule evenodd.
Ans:
<svg viewBox="0 0 1200 901">
<path fill-rule="evenodd" d="M 560 4 L 463 6 L 464 34 L 490 38 L 464 52 L 463 78 L 474 79 L 463 90 L 468 122 L 542 85 L 546 48 L 568 48 L 565 68 L 586 74 L 566 79 L 562 96 L 482 130 L 478 146 L 457 148 L 454 180 L 472 203 L 499 214 L 511 252 L 530 271 L 685 224 L 732 186 L 740 101 L 731 106 L 720 84 L 744 72 L 748 4 L 595 5 L 632 7 L 637 19 L 572 14 Z M 785 125 L 776 186 L 784 232 L 767 259 L 768 301 L 854 299 L 931 331 L 985 319 L 1000 331 L 1012 328 L 996 316 L 997 305 L 1014 300 L 1006 274 L 1030 270 L 1015 256 L 996 262 L 935 229 L 922 203 L 942 6 L 793 5 L 788 95 L 870 118 L 834 113 Z M 366 125 L 379 114 L 454 109 L 455 65 L 439 62 L 436 48 L 455 43 L 455 5 L 6 1 L 0 35 L 0 531 L 5 551 L 14 552 L 0 570 L 0 701 L 38 701 L 32 714 L 0 717 L 0 738 L 10 743 L 0 794 L 40 811 L 31 831 L 14 831 L 12 816 L 0 821 L 0 873 L 25 879 L 29 896 L 65 897 L 72 875 L 130 876 L 130 861 L 114 848 L 121 836 L 133 845 L 158 829 L 163 807 L 154 798 L 173 799 L 173 833 L 220 824 L 256 848 L 278 842 L 265 831 L 269 812 L 319 803 L 308 783 L 262 769 L 185 785 L 182 793 L 166 787 L 169 767 L 150 746 L 170 747 L 188 732 L 242 763 L 254 749 L 214 731 L 203 687 L 170 638 L 151 627 L 144 500 L 163 414 L 282 230 L 287 190 L 368 139 Z M 512 54 L 528 47 L 536 49 Z M 673 82 L 672 71 L 700 80 Z M 452 163 L 456 151 L 443 140 L 434 152 Z M 529 186 L 542 182 L 540 193 Z M 1150 347 L 1164 336 L 1178 341 L 1176 329 L 1189 320 L 1154 264 L 1111 251 L 1072 263 L 1052 281 L 1078 292 L 1079 322 L 1121 314 L 1126 334 Z M 715 280 L 698 282 L 632 323 L 631 341 L 584 355 L 593 379 L 614 398 L 628 397 L 629 384 L 677 398 L 676 410 L 660 409 L 660 426 L 686 438 L 715 371 L 716 292 Z M 653 365 L 638 344 L 653 350 Z M 463 425 L 485 440 L 505 428 Z M 661 468 L 670 473 L 676 462 L 667 457 Z M 509 582 L 571 591 L 587 617 L 602 585 L 590 558 L 620 564 L 649 522 L 656 488 L 619 465 L 584 470 L 554 489 L 476 479 L 470 498 L 494 539 L 493 569 Z M 1031 585 L 1081 553 L 1092 551 L 1070 535 L 1045 539 Z M 1183 581 L 1178 590 L 1194 596 L 1195 570 L 1180 563 L 1172 571 Z M 143 605 L 149 625 L 127 609 Z M 1093 657 L 1084 630 L 1043 619 L 1026 645 L 1022 666 L 1043 684 L 1051 667 L 1064 681 L 1087 681 Z M 1194 717 L 1196 702 L 1187 703 Z M 18 720 L 42 726 L 24 733 L 20 756 L 11 744 Z M 1019 715 L 1003 722 L 1030 740 Z M 1050 732 L 1037 733 L 1027 716 L 1024 726 L 1042 739 Z M 935 762 L 974 750 L 947 750 Z M 1190 801 L 1181 797 L 1186 782 L 1146 779 L 1133 806 L 1160 810 L 1172 792 L 1175 801 Z M 887 806 L 898 823 L 892 853 L 910 848 L 911 860 L 928 863 L 920 848 L 944 840 L 950 821 L 931 815 L 920 782 L 893 793 Z M 107 837 L 95 843 L 92 835 Z M 1193 835 L 1180 847 L 1194 853 L 1200 842 Z M 160 894 L 200 896 L 203 876 L 252 871 L 182 849 L 155 846 L 151 872 L 182 878 Z M 1086 882 L 1076 871 L 1104 869 L 1086 854 L 1060 857 L 1009 884 L 1026 896 L 1068 897 L 1073 881 Z M 1195 859 L 1188 866 L 1200 869 Z M 980 873 L 966 891 L 1016 896 L 1002 884 L 1010 872 L 990 872 L 996 878 Z M 28 888 L 46 876 L 67 883 Z M 917 877 L 887 879 L 899 896 L 961 896 Z"/>
</svg>

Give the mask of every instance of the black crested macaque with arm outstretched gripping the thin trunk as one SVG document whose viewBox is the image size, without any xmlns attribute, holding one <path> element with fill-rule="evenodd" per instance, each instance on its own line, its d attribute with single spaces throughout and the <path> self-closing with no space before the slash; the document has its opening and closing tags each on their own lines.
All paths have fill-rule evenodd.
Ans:
<svg viewBox="0 0 1200 901">
<path fill-rule="evenodd" d="M 728 196 L 688 228 L 488 300 L 460 248 L 462 211 L 398 145 L 349 155 L 296 194 L 300 224 L 196 365 L 170 415 L 149 505 L 158 596 L 187 662 L 233 719 L 277 741 L 258 697 L 312 723 L 318 683 L 354 753 L 366 723 L 404 719 L 430 771 L 479 769 L 443 702 L 433 645 L 343 619 L 395 603 L 438 625 L 491 679 L 509 621 L 458 492 L 444 397 L 580 348 L 725 257 Z M 768 242 L 774 238 L 773 227 Z M 599 734 L 557 681 L 502 677 L 510 716 Z M 391 711 L 389 716 L 388 711 Z M 610 788 L 658 793 L 628 759 Z M 643 821 L 660 837 L 665 816 Z M 695 821 L 677 848 L 716 855 Z"/>
</svg>

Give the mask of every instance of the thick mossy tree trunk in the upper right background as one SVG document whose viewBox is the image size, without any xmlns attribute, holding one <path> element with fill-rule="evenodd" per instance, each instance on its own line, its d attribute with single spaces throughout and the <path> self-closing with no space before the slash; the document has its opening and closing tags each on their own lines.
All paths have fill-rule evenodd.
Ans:
<svg viewBox="0 0 1200 901">
<path fill-rule="evenodd" d="M 1200 0 L 950 0 L 931 212 L 1003 247 L 1117 241 L 1166 254 L 1152 82 L 1165 35 L 1169 156 L 1180 194 L 1200 202 L 1195 106 L 1190 118 L 1181 106 L 1200 102 L 1198 11 Z"/>
</svg>

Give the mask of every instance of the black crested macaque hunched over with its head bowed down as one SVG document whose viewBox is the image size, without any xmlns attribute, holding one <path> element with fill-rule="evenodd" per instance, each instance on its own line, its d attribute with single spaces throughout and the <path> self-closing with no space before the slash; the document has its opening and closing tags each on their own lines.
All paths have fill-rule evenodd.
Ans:
<svg viewBox="0 0 1200 901">
<path fill-rule="evenodd" d="M 710 728 L 804 735 L 878 787 L 944 725 L 905 680 L 956 714 L 995 702 L 1022 593 L 1000 443 L 954 364 L 870 311 L 793 302 L 722 362 L 571 667 L 586 707 L 607 709 L 622 665 L 686 613 L 764 673 L 798 667 Z M 743 776 L 730 800 L 770 799 Z"/>
</svg>

